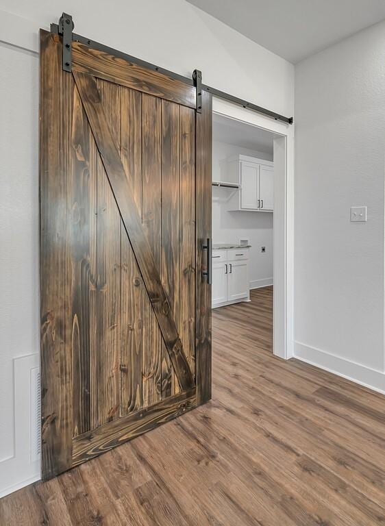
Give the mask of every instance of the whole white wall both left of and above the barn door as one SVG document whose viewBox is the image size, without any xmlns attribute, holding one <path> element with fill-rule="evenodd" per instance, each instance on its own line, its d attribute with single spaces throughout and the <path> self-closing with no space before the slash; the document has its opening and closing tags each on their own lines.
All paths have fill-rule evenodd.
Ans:
<svg viewBox="0 0 385 526">
<path fill-rule="evenodd" d="M 183 75 L 200 68 L 205 84 L 286 115 L 293 114 L 294 68 L 184 0 L 116 0 L 108 8 L 90 0 L 0 0 L 0 10 L 1 496 L 39 473 L 30 423 L 27 431 L 19 425 L 31 403 L 26 371 L 39 348 L 38 60 L 23 49 L 36 53 L 39 27 L 49 29 L 64 10 L 79 34 Z"/>
</svg>

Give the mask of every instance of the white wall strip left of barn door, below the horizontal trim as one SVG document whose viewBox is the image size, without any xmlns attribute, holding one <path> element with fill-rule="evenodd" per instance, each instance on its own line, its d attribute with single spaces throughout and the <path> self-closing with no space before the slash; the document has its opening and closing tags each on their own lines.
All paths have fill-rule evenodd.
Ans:
<svg viewBox="0 0 385 526">
<path fill-rule="evenodd" d="M 38 57 L 0 46 L 0 497 L 34 479 L 29 458 L 29 372 L 38 360 Z M 27 381 L 17 383 L 17 368 Z M 22 393 L 16 394 L 15 388 Z M 23 400 L 24 398 L 24 400 Z M 16 400 L 19 403 L 16 403 Z M 22 403 L 20 403 L 20 400 Z M 27 419 L 25 419 L 27 416 Z M 24 421 L 24 422 L 23 422 Z M 23 427 L 24 425 L 24 427 Z M 21 427 L 20 427 L 21 426 Z M 24 447 L 18 441 L 21 429 Z"/>
</svg>

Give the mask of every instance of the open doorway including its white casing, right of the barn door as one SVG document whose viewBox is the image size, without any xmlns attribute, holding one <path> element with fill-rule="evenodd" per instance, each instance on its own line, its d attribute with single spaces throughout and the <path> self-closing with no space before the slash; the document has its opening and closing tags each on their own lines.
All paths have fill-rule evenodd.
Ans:
<svg viewBox="0 0 385 526">
<path fill-rule="evenodd" d="M 293 356 L 293 150 L 293 127 L 214 97 L 213 316 L 247 316 L 250 327 L 262 316 L 264 348 L 284 359 Z"/>
</svg>

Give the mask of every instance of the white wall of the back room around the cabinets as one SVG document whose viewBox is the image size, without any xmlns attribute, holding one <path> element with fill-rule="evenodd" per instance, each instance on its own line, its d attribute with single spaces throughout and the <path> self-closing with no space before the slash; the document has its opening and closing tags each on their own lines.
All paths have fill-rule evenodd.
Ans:
<svg viewBox="0 0 385 526">
<path fill-rule="evenodd" d="M 215 136 L 214 136 L 215 138 Z M 250 150 L 225 142 L 212 142 L 212 179 L 223 181 L 226 161 L 232 155 L 251 155 L 273 160 L 272 153 Z M 228 188 L 212 188 L 212 242 L 238 243 L 248 239 L 250 249 L 250 288 L 273 284 L 273 214 L 269 212 L 228 212 Z M 266 252 L 261 252 L 261 247 Z"/>
</svg>

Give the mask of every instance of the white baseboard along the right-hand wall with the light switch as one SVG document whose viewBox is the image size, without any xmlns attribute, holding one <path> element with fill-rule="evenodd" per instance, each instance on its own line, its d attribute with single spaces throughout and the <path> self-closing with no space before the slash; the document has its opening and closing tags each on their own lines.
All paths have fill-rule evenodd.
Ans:
<svg viewBox="0 0 385 526">
<path fill-rule="evenodd" d="M 385 394 L 384 371 L 351 362 L 346 358 L 310 347 L 301 342 L 295 342 L 294 358 Z"/>
</svg>

